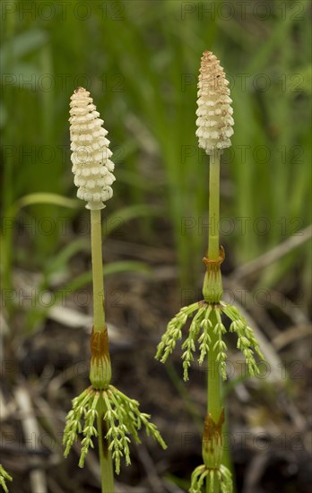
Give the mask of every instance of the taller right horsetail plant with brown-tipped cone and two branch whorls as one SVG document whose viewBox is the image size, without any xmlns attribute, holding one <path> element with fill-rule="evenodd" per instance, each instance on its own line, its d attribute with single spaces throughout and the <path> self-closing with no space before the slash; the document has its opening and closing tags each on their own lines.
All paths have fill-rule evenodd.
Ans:
<svg viewBox="0 0 312 493">
<path fill-rule="evenodd" d="M 221 404 L 221 378 L 226 380 L 227 345 L 223 340 L 227 332 L 221 316 L 230 319 L 230 332 L 238 336 L 238 350 L 241 350 L 251 376 L 259 373 L 255 352 L 260 359 L 263 354 L 255 335 L 238 308 L 222 301 L 221 264 L 224 261 L 224 248 L 219 243 L 220 217 L 220 157 L 224 149 L 230 147 L 233 134 L 233 110 L 230 106 L 229 82 L 225 78 L 219 60 L 211 51 L 205 51 L 201 60 L 196 136 L 198 146 L 210 156 L 209 174 L 209 224 L 208 252 L 203 261 L 204 300 L 180 309 L 170 320 L 163 334 L 156 359 L 162 363 L 169 358 L 176 344 L 182 339 L 182 328 L 188 317 L 193 316 L 186 340 L 182 343 L 184 379 L 194 361 L 195 344 L 199 346 L 200 365 L 208 359 L 207 415 L 204 419 L 203 460 L 204 464 L 193 471 L 190 493 L 201 493 L 204 483 L 207 493 L 230 493 L 232 478 L 229 469 L 222 464 L 222 425 L 224 408 Z"/>
</svg>

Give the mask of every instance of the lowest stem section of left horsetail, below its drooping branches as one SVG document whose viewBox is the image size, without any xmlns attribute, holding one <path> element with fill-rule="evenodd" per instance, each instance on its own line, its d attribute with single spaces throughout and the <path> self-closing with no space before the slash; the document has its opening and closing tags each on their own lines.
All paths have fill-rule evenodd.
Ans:
<svg viewBox="0 0 312 493">
<path fill-rule="evenodd" d="M 97 419 L 99 432 L 99 452 L 100 452 L 100 484 L 102 493 L 114 493 L 114 472 L 111 452 L 108 450 L 108 441 L 103 436 L 103 425 L 106 421 L 103 419 L 104 413 L 99 414 Z"/>
</svg>

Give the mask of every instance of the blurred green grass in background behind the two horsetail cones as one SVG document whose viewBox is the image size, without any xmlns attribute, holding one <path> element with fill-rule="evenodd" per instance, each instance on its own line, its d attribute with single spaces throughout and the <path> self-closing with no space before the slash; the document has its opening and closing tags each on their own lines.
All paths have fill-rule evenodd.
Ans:
<svg viewBox="0 0 312 493">
<path fill-rule="evenodd" d="M 221 237 L 232 263 L 256 258 L 307 226 L 311 4 L 227 4 L 3 2 L 3 218 L 24 195 L 75 197 L 68 103 L 75 87 L 85 86 L 115 151 L 108 213 L 137 206 L 140 240 L 151 244 L 159 236 L 160 244 L 167 232 L 155 229 L 156 206 L 172 231 L 181 285 L 192 286 L 203 270 L 208 202 L 208 160 L 195 139 L 196 79 L 202 52 L 211 49 L 228 74 L 235 117 L 221 171 Z M 64 215 L 57 203 L 28 211 L 35 221 Z M 135 209 L 124 221 L 134 218 Z M 53 234 L 33 235 L 36 267 L 65 243 L 57 221 Z M 14 230 L 4 228 L 4 286 L 16 262 L 13 244 Z M 307 245 L 290 252 L 257 282 L 275 287 L 295 270 L 307 290 L 309 255 Z"/>
</svg>

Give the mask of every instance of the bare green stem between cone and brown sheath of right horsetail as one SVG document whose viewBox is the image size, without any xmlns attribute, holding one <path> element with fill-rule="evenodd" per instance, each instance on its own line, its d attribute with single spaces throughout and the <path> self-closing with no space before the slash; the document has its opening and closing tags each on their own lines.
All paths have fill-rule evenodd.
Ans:
<svg viewBox="0 0 312 493">
<path fill-rule="evenodd" d="M 208 258 L 219 258 L 219 220 L 220 220 L 220 152 L 214 151 L 210 157 L 209 169 L 209 229 Z"/>
</svg>

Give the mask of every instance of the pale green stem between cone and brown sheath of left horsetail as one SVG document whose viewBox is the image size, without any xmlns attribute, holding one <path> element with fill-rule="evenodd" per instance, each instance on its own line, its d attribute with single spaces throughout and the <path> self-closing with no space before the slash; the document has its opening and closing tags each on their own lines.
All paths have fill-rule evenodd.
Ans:
<svg viewBox="0 0 312 493">
<path fill-rule="evenodd" d="M 101 332 L 105 329 L 105 313 L 100 210 L 91 210 L 91 257 L 93 279 L 93 327 L 95 332 Z"/>
</svg>

